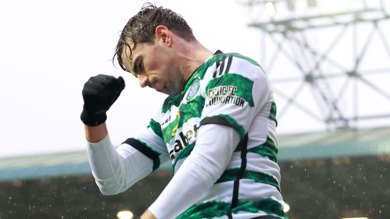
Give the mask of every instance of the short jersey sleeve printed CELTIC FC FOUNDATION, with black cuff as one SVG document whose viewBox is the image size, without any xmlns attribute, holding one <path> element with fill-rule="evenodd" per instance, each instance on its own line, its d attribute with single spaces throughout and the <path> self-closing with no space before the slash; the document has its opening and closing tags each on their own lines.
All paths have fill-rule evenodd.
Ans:
<svg viewBox="0 0 390 219">
<path fill-rule="evenodd" d="M 205 106 L 200 125 L 231 126 L 241 138 L 253 118 L 270 101 L 271 95 L 263 69 L 253 60 L 238 54 L 234 55 L 229 71 L 210 75 L 202 90 L 205 92 Z"/>
</svg>

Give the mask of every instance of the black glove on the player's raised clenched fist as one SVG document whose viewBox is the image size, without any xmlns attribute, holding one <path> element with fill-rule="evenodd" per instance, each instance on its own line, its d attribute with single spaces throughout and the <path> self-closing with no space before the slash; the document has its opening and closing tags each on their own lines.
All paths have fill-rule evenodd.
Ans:
<svg viewBox="0 0 390 219">
<path fill-rule="evenodd" d="M 84 107 L 81 121 L 88 126 L 97 126 L 107 120 L 106 112 L 124 89 L 122 77 L 118 79 L 108 75 L 89 78 L 84 84 Z"/>
</svg>

